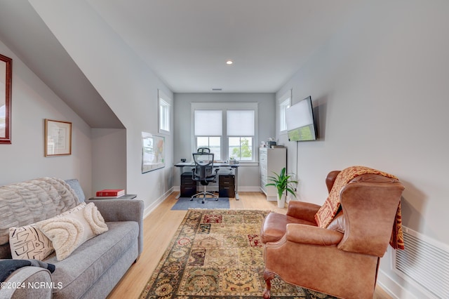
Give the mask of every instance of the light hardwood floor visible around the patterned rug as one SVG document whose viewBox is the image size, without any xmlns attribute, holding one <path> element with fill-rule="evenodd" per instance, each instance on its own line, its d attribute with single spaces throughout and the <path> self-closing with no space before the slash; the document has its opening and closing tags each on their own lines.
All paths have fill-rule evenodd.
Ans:
<svg viewBox="0 0 449 299">
<path fill-rule="evenodd" d="M 173 192 L 151 214 L 144 219 L 144 251 L 137 263 L 132 265 L 126 275 L 116 285 L 108 298 L 138 298 L 154 268 L 159 263 L 170 239 L 184 219 L 187 211 L 171 211 L 176 203 L 177 192 Z M 286 208 L 278 208 L 276 201 L 267 201 L 260 192 L 239 192 L 240 200 L 229 199 L 230 208 L 271 210 L 286 213 Z M 207 208 L 207 203 L 204 208 Z M 376 288 L 375 299 L 391 299 L 387 293 Z"/>
</svg>

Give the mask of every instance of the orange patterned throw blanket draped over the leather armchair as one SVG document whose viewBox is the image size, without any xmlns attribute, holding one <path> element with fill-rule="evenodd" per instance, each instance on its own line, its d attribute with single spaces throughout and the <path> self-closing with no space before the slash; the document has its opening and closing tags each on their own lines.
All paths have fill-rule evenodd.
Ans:
<svg viewBox="0 0 449 299">
<path fill-rule="evenodd" d="M 351 166 L 338 173 L 335 178 L 334 185 L 329 192 L 329 197 L 315 215 L 316 224 L 319 227 L 326 228 L 332 222 L 335 215 L 337 215 L 340 208 L 340 191 L 357 175 L 363 174 L 383 175 L 387 178 L 397 179 L 396 176 L 383 171 L 377 171 L 373 168 L 365 166 Z M 394 249 L 404 249 L 404 241 L 402 234 L 402 220 L 401 220 L 401 201 L 399 201 L 398 210 L 396 211 L 396 219 L 394 220 L 393 230 L 391 232 L 390 245 Z"/>
</svg>

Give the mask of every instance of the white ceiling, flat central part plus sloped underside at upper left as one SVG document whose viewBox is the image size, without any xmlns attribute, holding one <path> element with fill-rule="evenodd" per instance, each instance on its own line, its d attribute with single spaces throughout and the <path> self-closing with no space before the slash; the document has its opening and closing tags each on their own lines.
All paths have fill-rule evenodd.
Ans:
<svg viewBox="0 0 449 299">
<path fill-rule="evenodd" d="M 174 93 L 275 93 L 364 2 L 85 1 Z M 0 41 L 89 126 L 123 128 L 27 0 L 0 8 Z"/>
</svg>

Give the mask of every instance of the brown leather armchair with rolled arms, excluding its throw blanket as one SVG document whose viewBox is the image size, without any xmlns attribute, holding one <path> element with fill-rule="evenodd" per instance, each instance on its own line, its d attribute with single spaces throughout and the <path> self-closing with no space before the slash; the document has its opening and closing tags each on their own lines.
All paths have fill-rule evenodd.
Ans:
<svg viewBox="0 0 449 299">
<path fill-rule="evenodd" d="M 328 191 L 340 171 L 326 178 Z M 373 298 L 380 258 L 387 251 L 403 185 L 396 178 L 362 174 L 340 191 L 340 210 L 328 227 L 315 215 L 321 206 L 290 201 L 286 215 L 270 213 L 262 225 L 264 298 L 271 280 L 339 298 Z"/>
</svg>

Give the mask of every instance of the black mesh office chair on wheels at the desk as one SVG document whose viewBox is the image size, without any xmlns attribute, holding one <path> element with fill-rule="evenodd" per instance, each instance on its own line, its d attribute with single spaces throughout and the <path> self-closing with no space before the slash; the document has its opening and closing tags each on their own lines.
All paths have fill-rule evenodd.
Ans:
<svg viewBox="0 0 449 299">
<path fill-rule="evenodd" d="M 204 204 L 206 195 L 209 194 L 217 201 L 218 195 L 206 191 L 206 186 L 209 185 L 209 182 L 217 182 L 218 168 L 215 171 L 213 169 L 213 154 L 208 152 L 194 152 L 192 155 L 195 161 L 195 168 L 192 168 L 192 179 L 200 182 L 204 186 L 204 190 L 196 193 L 190 200 L 193 201 L 194 197 L 203 195 L 203 201 L 201 203 Z"/>
</svg>

